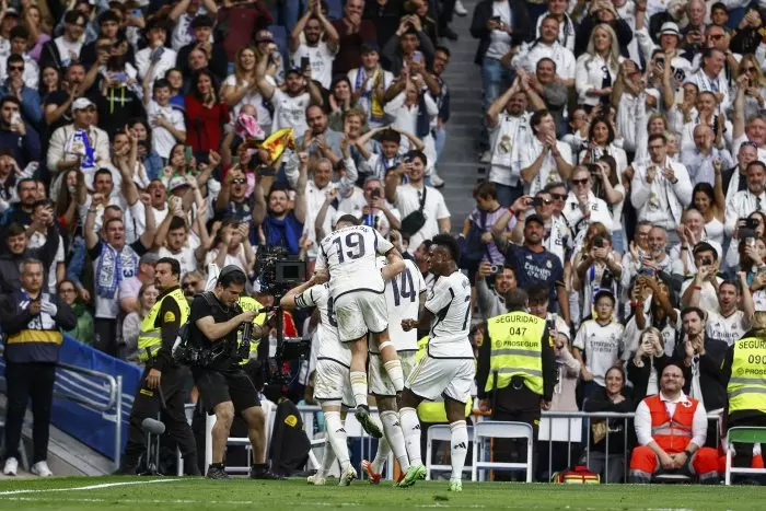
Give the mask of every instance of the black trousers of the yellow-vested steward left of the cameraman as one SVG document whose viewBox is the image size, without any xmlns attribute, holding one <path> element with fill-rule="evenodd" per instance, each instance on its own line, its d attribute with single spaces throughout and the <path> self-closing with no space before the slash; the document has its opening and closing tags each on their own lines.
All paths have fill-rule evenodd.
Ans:
<svg viewBox="0 0 766 511">
<path fill-rule="evenodd" d="M 165 431 L 177 442 L 181 455 L 187 458 L 188 455 L 195 455 L 197 452 L 192 427 L 186 421 L 184 413 L 186 369 L 166 368 L 162 371 L 160 388 L 155 390 L 147 388 L 148 374 L 149 368 L 143 371 L 141 385 L 136 393 L 134 408 L 130 410 L 128 444 L 125 446 L 123 460 L 123 465 L 126 467 L 138 466 L 141 455 L 147 450 L 147 433 L 141 428 L 141 422 L 147 417 L 155 419 L 160 410 L 163 411 Z M 194 457 L 188 457 L 186 461 L 192 462 L 192 460 L 196 461 Z"/>
</svg>

